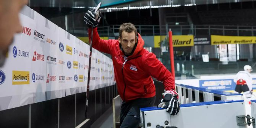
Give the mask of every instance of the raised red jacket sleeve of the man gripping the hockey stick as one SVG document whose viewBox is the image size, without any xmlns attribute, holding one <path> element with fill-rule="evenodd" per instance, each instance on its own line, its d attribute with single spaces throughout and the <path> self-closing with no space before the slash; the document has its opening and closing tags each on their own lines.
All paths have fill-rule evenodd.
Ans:
<svg viewBox="0 0 256 128">
<path fill-rule="evenodd" d="M 105 53 L 111 54 L 113 44 L 116 40 L 100 39 L 97 29 L 98 29 L 97 27 L 93 29 L 92 47 L 94 49 L 99 50 L 100 52 L 105 52 Z M 91 42 L 91 33 L 92 33 L 92 28 L 89 28 L 88 29 L 89 42 Z"/>
</svg>

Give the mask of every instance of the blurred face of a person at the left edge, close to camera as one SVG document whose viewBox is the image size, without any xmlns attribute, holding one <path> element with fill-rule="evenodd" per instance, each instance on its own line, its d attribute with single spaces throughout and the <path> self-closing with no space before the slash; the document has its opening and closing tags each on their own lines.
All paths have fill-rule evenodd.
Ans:
<svg viewBox="0 0 256 128">
<path fill-rule="evenodd" d="M 21 32 L 19 11 L 27 2 L 28 0 L 0 0 L 0 67 L 5 63 L 14 34 Z"/>
</svg>

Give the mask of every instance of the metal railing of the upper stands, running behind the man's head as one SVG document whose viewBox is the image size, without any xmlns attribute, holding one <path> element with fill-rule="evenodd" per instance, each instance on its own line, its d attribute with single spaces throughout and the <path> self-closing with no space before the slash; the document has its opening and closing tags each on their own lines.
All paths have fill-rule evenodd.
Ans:
<svg viewBox="0 0 256 128">
<path fill-rule="evenodd" d="M 118 36 L 120 25 L 99 26 L 100 36 Z M 231 25 L 135 25 L 141 36 L 164 36 L 172 29 L 173 35 L 223 35 L 223 36 L 256 36 L 256 26 Z M 75 28 L 75 34 L 87 34 L 86 28 Z M 86 35 L 87 36 L 87 35 Z"/>
</svg>

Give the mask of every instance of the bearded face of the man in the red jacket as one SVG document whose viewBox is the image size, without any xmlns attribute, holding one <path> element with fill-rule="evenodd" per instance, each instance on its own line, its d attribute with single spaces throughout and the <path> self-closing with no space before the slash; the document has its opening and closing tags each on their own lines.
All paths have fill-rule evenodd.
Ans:
<svg viewBox="0 0 256 128">
<path fill-rule="evenodd" d="M 130 55 L 136 43 L 135 32 L 133 31 L 128 33 L 126 31 L 123 31 L 122 39 L 119 37 L 118 40 L 119 40 L 119 43 L 121 43 L 122 45 L 125 55 Z"/>
</svg>

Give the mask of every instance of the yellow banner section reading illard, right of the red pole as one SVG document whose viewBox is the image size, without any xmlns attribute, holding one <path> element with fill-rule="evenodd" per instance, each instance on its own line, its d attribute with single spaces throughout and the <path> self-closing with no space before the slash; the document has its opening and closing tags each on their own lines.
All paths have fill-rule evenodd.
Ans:
<svg viewBox="0 0 256 128">
<path fill-rule="evenodd" d="M 173 47 L 194 46 L 193 35 L 172 36 Z"/>
</svg>

